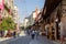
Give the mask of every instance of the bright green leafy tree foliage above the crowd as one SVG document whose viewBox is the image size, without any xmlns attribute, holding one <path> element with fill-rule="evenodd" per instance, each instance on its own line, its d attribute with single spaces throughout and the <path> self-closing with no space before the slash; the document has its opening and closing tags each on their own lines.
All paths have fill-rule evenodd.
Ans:
<svg viewBox="0 0 66 44">
<path fill-rule="evenodd" d="M 11 18 L 2 18 L 2 23 L 0 23 L 1 30 L 14 30 L 15 24 Z"/>
</svg>

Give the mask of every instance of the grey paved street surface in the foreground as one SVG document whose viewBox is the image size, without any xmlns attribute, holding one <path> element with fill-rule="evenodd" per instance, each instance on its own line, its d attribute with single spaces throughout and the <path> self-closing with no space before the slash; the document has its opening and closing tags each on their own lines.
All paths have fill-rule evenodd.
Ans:
<svg viewBox="0 0 66 44">
<path fill-rule="evenodd" d="M 1 42 L 0 44 L 54 44 L 52 41 L 47 40 L 45 36 L 38 36 L 32 40 L 31 36 L 22 36 L 19 38 L 8 40 Z M 56 43 L 55 43 L 56 44 Z"/>
</svg>

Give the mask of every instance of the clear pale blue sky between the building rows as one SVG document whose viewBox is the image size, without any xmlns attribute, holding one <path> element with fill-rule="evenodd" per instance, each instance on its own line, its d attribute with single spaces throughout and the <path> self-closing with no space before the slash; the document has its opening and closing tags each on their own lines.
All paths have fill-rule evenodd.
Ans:
<svg viewBox="0 0 66 44">
<path fill-rule="evenodd" d="M 29 16 L 35 8 L 41 10 L 44 3 L 45 0 L 14 0 L 14 4 L 19 9 L 20 22 L 23 22 L 23 19 Z"/>
</svg>

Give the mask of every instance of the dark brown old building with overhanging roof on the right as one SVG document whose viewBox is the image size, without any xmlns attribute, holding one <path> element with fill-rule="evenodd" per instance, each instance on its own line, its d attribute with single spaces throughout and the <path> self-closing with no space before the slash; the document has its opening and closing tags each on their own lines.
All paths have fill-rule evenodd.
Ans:
<svg viewBox="0 0 66 44">
<path fill-rule="evenodd" d="M 44 22 L 44 26 L 50 24 L 50 29 L 47 32 L 47 37 L 51 40 L 59 40 L 61 31 L 59 31 L 59 22 L 63 19 L 63 22 L 66 22 L 66 0 L 45 0 L 45 6 L 42 12 L 42 18 Z M 42 23 L 43 24 L 43 23 Z M 65 23 L 66 24 L 66 23 Z M 45 29 L 45 28 L 44 28 Z"/>
</svg>

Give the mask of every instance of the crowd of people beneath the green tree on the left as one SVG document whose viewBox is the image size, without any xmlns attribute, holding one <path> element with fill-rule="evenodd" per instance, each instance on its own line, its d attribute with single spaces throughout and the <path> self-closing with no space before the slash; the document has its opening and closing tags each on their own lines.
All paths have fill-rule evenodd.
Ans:
<svg viewBox="0 0 66 44">
<path fill-rule="evenodd" d="M 20 33 L 16 33 L 15 31 L 0 31 L 0 37 L 16 37 Z"/>
</svg>

